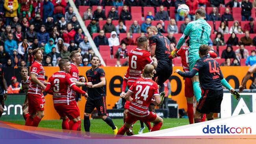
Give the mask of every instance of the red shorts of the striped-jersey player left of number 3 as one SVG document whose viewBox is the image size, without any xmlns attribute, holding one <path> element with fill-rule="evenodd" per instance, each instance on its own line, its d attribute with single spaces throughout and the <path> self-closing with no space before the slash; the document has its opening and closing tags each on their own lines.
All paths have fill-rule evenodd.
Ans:
<svg viewBox="0 0 256 144">
<path fill-rule="evenodd" d="M 45 97 L 39 94 L 27 94 L 28 96 L 28 111 L 29 113 L 37 113 L 37 111 L 44 111 Z"/>
</svg>

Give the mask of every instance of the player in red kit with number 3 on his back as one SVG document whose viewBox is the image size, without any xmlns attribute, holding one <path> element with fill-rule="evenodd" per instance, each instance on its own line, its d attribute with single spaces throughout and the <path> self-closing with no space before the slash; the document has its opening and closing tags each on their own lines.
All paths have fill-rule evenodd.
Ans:
<svg viewBox="0 0 256 144">
<path fill-rule="evenodd" d="M 59 71 L 49 78 L 45 91 L 53 94 L 54 109 L 63 119 L 62 129 L 79 131 L 81 130 L 80 112 L 75 103 L 69 99 L 70 90 L 85 95 L 85 98 L 88 95 L 72 81 L 69 74 L 70 68 L 69 60 L 61 59 L 59 61 Z M 71 128 L 69 127 L 68 120 L 72 120 L 74 123 Z"/>
</svg>

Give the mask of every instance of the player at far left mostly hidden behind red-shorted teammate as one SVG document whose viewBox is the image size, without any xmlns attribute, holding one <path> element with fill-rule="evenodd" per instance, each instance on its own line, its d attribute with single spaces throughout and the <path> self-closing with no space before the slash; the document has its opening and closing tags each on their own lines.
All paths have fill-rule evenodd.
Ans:
<svg viewBox="0 0 256 144">
<path fill-rule="evenodd" d="M 22 80 L 21 80 L 22 89 L 24 90 L 24 92 L 26 94 L 25 101 L 22 105 L 23 117 L 26 120 L 30 116 L 30 114 L 28 112 L 28 96 L 27 96 L 27 94 L 28 94 L 28 88 L 31 83 L 30 77 L 28 76 L 28 68 L 26 66 L 22 66 L 20 68 L 20 76 L 22 78 Z"/>
</svg>

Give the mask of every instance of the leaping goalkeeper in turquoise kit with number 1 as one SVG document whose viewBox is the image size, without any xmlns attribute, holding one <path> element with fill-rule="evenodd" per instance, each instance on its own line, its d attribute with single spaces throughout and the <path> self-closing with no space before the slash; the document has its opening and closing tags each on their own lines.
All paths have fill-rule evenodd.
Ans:
<svg viewBox="0 0 256 144">
<path fill-rule="evenodd" d="M 192 70 L 196 61 L 200 59 L 198 55 L 198 50 L 201 44 L 208 44 L 208 40 L 211 34 L 211 26 L 204 20 L 206 12 L 204 9 L 197 9 L 196 11 L 196 20 L 189 22 L 184 30 L 184 33 L 178 44 L 173 50 L 172 56 L 175 57 L 176 52 L 180 49 L 182 44 L 189 37 L 189 70 Z M 198 73 L 192 78 L 193 81 L 193 90 L 195 98 L 198 100 L 201 98 L 201 88 L 199 86 Z"/>
</svg>

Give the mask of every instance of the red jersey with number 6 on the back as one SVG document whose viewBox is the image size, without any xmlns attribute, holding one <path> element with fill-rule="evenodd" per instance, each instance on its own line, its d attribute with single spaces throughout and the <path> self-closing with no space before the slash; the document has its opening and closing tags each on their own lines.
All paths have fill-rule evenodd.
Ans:
<svg viewBox="0 0 256 144">
<path fill-rule="evenodd" d="M 139 48 L 131 50 L 129 53 L 129 68 L 127 69 L 128 82 L 134 82 L 135 79 L 141 78 L 144 66 L 153 62 L 148 51 Z"/>
</svg>

